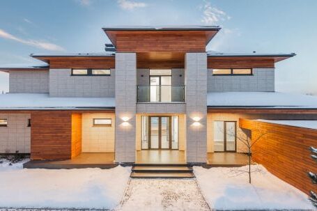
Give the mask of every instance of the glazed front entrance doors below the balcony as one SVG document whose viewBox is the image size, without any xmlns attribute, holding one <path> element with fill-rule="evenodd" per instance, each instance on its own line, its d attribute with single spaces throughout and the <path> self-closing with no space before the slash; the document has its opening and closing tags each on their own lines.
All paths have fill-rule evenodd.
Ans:
<svg viewBox="0 0 317 211">
<path fill-rule="evenodd" d="M 142 150 L 178 150 L 178 116 L 142 116 Z"/>
</svg>

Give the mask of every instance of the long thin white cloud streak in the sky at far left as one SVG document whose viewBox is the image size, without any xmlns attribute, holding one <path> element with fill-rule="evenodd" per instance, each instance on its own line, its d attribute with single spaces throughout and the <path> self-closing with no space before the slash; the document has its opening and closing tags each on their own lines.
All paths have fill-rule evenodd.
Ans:
<svg viewBox="0 0 317 211">
<path fill-rule="evenodd" d="M 3 31 L 2 29 L 0 29 L 0 38 L 14 40 L 16 42 L 20 42 L 20 43 L 23 43 L 25 45 L 31 45 L 34 47 L 47 49 L 50 51 L 63 51 L 64 50 L 63 47 L 61 47 L 59 45 L 55 45 L 55 44 L 50 43 L 50 42 L 42 42 L 42 41 L 38 41 L 38 40 L 24 40 L 22 38 L 17 38 L 16 36 L 13 36 L 12 34 L 6 32 L 6 31 Z"/>
</svg>

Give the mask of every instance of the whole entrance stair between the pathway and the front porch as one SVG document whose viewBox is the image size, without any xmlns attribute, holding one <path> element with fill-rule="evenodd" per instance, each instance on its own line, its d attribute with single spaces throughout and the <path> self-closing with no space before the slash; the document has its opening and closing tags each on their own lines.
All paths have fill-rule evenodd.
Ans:
<svg viewBox="0 0 317 211">
<path fill-rule="evenodd" d="M 133 164 L 131 178 L 194 178 L 187 164 Z"/>
</svg>

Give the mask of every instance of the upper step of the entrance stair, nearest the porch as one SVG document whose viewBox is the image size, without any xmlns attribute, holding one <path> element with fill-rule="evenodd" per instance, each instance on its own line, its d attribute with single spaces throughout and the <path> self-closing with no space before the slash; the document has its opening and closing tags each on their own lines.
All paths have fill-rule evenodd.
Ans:
<svg viewBox="0 0 317 211">
<path fill-rule="evenodd" d="M 133 166 L 132 171 L 139 173 L 191 173 L 192 166 Z"/>
</svg>

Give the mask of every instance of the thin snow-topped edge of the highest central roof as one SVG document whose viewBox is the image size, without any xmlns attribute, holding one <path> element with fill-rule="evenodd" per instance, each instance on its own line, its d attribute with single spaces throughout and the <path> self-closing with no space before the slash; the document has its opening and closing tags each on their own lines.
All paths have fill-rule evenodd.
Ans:
<svg viewBox="0 0 317 211">
<path fill-rule="evenodd" d="M 109 26 L 102 28 L 105 31 L 118 31 L 118 30 L 162 30 L 162 31 L 173 31 L 173 30 L 219 30 L 219 26 L 199 26 L 199 25 L 183 25 L 183 26 Z"/>
</svg>

